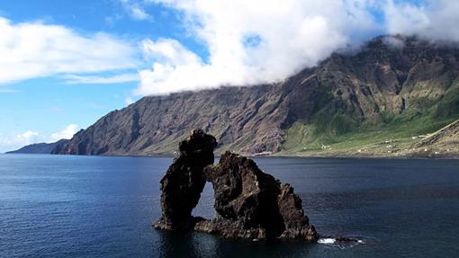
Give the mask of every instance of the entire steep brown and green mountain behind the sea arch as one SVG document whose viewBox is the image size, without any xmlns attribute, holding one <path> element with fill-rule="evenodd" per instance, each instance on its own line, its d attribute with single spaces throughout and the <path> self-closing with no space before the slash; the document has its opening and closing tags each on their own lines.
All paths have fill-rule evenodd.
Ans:
<svg viewBox="0 0 459 258">
<path fill-rule="evenodd" d="M 53 153 L 172 153 L 193 128 L 214 135 L 217 151 L 250 154 L 318 151 L 353 137 L 409 138 L 459 118 L 458 75 L 455 46 L 379 37 L 282 83 L 145 97 Z"/>
</svg>

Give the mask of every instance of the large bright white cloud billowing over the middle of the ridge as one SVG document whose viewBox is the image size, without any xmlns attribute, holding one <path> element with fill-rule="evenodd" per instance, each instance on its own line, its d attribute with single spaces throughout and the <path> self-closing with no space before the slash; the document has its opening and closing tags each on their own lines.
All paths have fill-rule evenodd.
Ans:
<svg viewBox="0 0 459 258">
<path fill-rule="evenodd" d="M 144 40 L 153 65 L 139 72 L 140 95 L 281 81 L 377 26 L 371 0 L 152 2 L 184 13 L 187 30 L 210 57 L 204 63 L 176 40 Z"/>
</svg>

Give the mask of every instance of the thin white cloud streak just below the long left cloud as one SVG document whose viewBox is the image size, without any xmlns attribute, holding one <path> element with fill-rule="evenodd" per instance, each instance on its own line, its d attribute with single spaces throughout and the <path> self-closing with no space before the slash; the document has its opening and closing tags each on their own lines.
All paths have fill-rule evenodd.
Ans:
<svg viewBox="0 0 459 258">
<path fill-rule="evenodd" d="M 116 76 L 65 76 L 68 85 L 107 85 L 139 81 L 139 74 L 121 74 Z"/>
</svg>

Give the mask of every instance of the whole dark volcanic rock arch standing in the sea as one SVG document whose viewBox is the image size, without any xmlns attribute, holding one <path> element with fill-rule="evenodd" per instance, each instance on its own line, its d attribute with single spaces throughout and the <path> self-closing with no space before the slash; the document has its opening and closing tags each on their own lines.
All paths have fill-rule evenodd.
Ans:
<svg viewBox="0 0 459 258">
<path fill-rule="evenodd" d="M 161 180 L 162 218 L 157 229 L 194 229 L 225 237 L 316 240 L 302 210 L 302 200 L 289 184 L 263 173 L 247 157 L 226 152 L 213 164 L 215 138 L 202 130 L 180 143 L 180 156 Z M 205 182 L 215 192 L 217 218 L 193 218 Z"/>
</svg>

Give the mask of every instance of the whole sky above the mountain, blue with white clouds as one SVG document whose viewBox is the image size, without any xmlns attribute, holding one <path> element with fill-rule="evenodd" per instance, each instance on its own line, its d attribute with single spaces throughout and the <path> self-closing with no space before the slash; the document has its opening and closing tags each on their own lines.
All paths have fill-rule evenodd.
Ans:
<svg viewBox="0 0 459 258">
<path fill-rule="evenodd" d="M 281 81 L 378 34 L 458 40 L 453 2 L 0 0 L 0 152 L 145 95 Z"/>
</svg>

